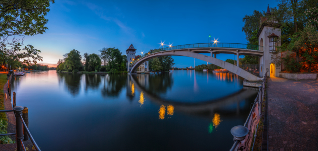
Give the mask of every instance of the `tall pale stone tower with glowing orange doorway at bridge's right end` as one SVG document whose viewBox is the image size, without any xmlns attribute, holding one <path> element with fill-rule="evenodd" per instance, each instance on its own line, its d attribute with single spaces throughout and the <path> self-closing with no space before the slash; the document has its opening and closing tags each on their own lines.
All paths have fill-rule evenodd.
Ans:
<svg viewBox="0 0 318 151">
<path fill-rule="evenodd" d="M 277 46 L 281 45 L 281 41 L 278 40 L 282 33 L 279 27 L 278 22 L 271 18 L 269 6 L 267 6 L 266 17 L 260 18 L 257 37 L 258 45 L 263 46 L 260 50 L 264 51 L 263 56 L 259 58 L 260 64 L 263 65 L 261 72 L 265 75 L 267 71 L 267 76 L 269 77 L 279 77 L 279 72 L 281 71 L 281 65 L 277 66 L 271 60 L 272 53 L 275 53 Z M 281 56 L 280 53 L 277 53 L 277 55 Z"/>
</svg>

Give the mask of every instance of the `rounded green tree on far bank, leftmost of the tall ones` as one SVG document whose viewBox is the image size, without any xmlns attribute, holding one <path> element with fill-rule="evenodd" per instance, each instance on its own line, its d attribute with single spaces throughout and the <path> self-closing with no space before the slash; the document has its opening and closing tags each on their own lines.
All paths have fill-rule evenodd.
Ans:
<svg viewBox="0 0 318 151">
<path fill-rule="evenodd" d="M 64 68 L 66 70 L 73 71 L 73 70 L 78 70 L 79 67 L 81 67 L 82 56 L 80 55 L 79 51 L 73 49 L 72 51 L 67 53 L 67 55 L 65 56 L 67 56 L 65 58 L 65 64 L 64 64 Z"/>
</svg>

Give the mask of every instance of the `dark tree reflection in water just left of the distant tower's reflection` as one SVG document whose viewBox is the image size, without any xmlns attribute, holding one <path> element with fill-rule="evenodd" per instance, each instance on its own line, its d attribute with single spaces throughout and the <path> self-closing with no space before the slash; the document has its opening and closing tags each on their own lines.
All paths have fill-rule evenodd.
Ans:
<svg viewBox="0 0 318 151">
<path fill-rule="evenodd" d="M 127 85 L 127 74 L 107 74 L 103 75 L 104 86 L 102 96 L 115 97 Z"/>
</svg>

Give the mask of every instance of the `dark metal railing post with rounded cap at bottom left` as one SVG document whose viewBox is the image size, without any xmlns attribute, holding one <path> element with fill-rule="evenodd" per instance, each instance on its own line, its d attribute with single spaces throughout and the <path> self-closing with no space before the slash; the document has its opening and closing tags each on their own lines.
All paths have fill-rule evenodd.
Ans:
<svg viewBox="0 0 318 151">
<path fill-rule="evenodd" d="M 23 139 L 23 124 L 22 124 L 21 118 L 19 116 L 19 114 L 22 114 L 23 107 L 16 106 L 13 108 L 13 110 L 15 111 L 15 114 L 16 114 L 16 124 L 17 124 L 17 127 L 16 127 L 17 151 L 23 151 L 23 147 L 22 147 L 22 143 L 21 143 L 21 141 Z"/>
</svg>

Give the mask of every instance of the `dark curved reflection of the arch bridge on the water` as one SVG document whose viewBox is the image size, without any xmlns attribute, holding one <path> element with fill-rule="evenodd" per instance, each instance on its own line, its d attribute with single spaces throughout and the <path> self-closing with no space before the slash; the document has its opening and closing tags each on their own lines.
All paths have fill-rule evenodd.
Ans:
<svg viewBox="0 0 318 151">
<path fill-rule="evenodd" d="M 179 103 L 179 102 L 173 102 L 170 100 L 159 98 L 157 95 L 153 95 L 149 93 L 147 90 L 146 82 L 147 79 L 149 79 L 149 74 L 134 74 L 134 75 L 128 75 L 128 82 L 129 86 L 127 87 L 127 94 L 128 92 L 130 95 L 135 95 L 135 90 L 139 90 L 143 93 L 143 97 L 150 98 L 150 100 L 153 103 L 156 103 L 158 105 L 163 105 L 165 107 L 167 106 L 173 106 L 175 110 L 184 112 L 184 113 L 190 113 L 190 114 L 206 114 L 209 116 L 212 116 L 215 110 L 218 110 L 224 106 L 237 104 L 237 112 L 240 111 L 239 103 L 242 100 L 245 100 L 246 98 L 253 98 L 255 95 L 257 95 L 257 89 L 255 88 L 249 88 L 244 87 L 241 91 L 232 94 L 230 96 L 226 96 L 220 99 L 216 100 L 208 100 L 205 102 L 198 102 L 198 103 Z M 156 76 L 156 75 L 155 75 Z M 222 75 L 221 75 L 222 77 Z"/>
</svg>

